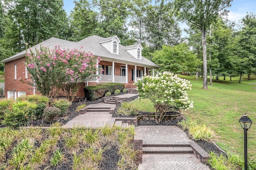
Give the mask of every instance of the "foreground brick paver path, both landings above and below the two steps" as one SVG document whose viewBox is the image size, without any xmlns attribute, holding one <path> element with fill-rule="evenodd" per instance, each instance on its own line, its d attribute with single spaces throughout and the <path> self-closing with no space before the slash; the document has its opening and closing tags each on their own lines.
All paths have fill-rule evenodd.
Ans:
<svg viewBox="0 0 256 170">
<path fill-rule="evenodd" d="M 139 126 L 135 132 L 147 143 L 184 143 L 189 141 L 185 132 L 175 126 Z M 138 170 L 210 170 L 194 154 L 143 154 Z"/>
</svg>

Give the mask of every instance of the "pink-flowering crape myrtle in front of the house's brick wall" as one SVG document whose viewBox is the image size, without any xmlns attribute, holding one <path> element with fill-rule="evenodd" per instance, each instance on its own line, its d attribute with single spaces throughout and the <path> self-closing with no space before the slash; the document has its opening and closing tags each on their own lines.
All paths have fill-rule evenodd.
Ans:
<svg viewBox="0 0 256 170">
<path fill-rule="evenodd" d="M 66 97 L 73 101 L 82 83 L 98 71 L 96 65 L 101 59 L 82 50 L 64 50 L 59 45 L 55 49 L 30 49 L 26 60 L 30 77 L 25 83 L 47 97 L 56 97 L 62 89 Z"/>
</svg>

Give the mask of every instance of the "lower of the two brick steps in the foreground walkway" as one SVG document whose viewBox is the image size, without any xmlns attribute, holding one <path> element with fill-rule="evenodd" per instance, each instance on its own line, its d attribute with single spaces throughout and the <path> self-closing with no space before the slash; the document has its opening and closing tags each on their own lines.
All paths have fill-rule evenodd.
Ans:
<svg viewBox="0 0 256 170">
<path fill-rule="evenodd" d="M 171 146 L 164 146 L 164 147 L 142 147 L 144 154 L 184 154 L 184 153 L 193 153 L 193 149 L 191 147 L 171 147 Z"/>
</svg>

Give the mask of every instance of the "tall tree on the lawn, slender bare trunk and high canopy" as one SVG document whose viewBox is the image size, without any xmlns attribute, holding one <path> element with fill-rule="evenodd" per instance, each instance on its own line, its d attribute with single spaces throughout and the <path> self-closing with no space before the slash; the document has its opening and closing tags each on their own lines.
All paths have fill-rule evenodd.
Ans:
<svg viewBox="0 0 256 170">
<path fill-rule="evenodd" d="M 220 12 L 222 14 L 227 13 L 225 8 L 231 6 L 231 1 L 232 0 L 174 0 L 176 15 L 179 19 L 192 27 L 199 27 L 201 30 L 204 70 L 203 89 L 208 89 L 206 30 L 209 28 L 210 24 L 216 21 Z"/>
</svg>

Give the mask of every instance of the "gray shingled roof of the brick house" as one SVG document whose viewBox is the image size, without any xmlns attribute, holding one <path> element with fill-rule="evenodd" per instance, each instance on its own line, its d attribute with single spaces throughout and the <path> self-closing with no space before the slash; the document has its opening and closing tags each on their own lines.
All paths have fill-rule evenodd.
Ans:
<svg viewBox="0 0 256 170">
<path fill-rule="evenodd" d="M 123 61 L 123 63 L 140 65 L 144 67 L 152 67 L 152 68 L 159 67 L 154 62 L 150 61 L 149 59 L 146 59 L 145 57 L 142 57 L 142 59 L 136 59 L 130 53 L 124 50 L 124 49 L 127 49 L 127 47 L 130 48 L 130 46 L 134 47 L 134 45 L 123 46 L 119 44 L 119 55 L 117 55 L 117 54 L 111 53 L 99 43 L 99 42 L 104 42 L 106 40 L 111 40 L 113 37 L 114 36 L 103 38 L 100 36 L 90 36 L 90 37 L 84 38 L 79 42 L 71 42 L 71 41 L 62 40 L 59 38 L 50 38 L 40 44 L 33 46 L 32 49 L 40 48 L 40 45 L 48 46 L 50 48 L 54 48 L 55 45 L 60 45 L 60 47 L 64 49 L 72 49 L 72 48 L 80 49 L 81 46 L 83 46 L 84 51 L 92 52 L 94 55 L 98 57 L 102 57 L 103 60 L 115 61 L 115 62 L 120 60 L 120 62 Z M 135 47 L 138 46 L 138 44 L 135 44 L 135 45 L 136 45 Z M 25 55 L 26 55 L 26 50 L 16 55 L 13 55 L 12 57 L 9 57 L 8 59 L 4 59 L 1 62 L 6 63 L 9 61 L 24 57 Z"/>
</svg>

